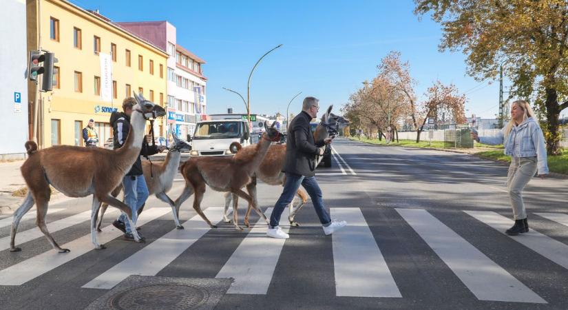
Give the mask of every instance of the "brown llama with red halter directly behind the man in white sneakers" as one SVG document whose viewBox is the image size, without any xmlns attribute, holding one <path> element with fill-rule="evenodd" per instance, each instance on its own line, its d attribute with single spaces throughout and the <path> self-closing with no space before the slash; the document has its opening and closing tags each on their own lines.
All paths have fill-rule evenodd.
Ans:
<svg viewBox="0 0 568 310">
<path fill-rule="evenodd" d="M 201 200 L 205 193 L 205 185 L 209 185 L 209 187 L 215 191 L 231 192 L 236 196 L 244 198 L 244 200 L 268 222 L 266 216 L 262 214 L 257 208 L 256 203 L 253 202 L 253 198 L 249 194 L 246 194 L 242 190 L 242 187 L 251 183 L 252 177 L 260 166 L 260 163 L 262 163 L 264 156 L 266 156 L 266 152 L 271 143 L 279 141 L 280 132 L 274 128 L 275 123 L 276 122 L 274 122 L 271 127 L 268 127 L 266 123 L 264 123 L 264 129 L 266 131 L 262 134 L 260 141 L 255 145 L 242 149 L 241 152 L 238 152 L 238 154 L 233 157 L 193 157 L 183 163 L 180 167 L 180 172 L 185 178 L 185 188 L 180 197 L 176 200 L 176 213 L 179 214 L 180 205 L 182 205 L 189 196 L 195 193 L 193 209 L 196 210 L 210 227 L 216 228 L 201 210 Z M 236 204 L 233 205 L 235 210 L 235 214 L 233 214 L 233 224 L 236 229 L 242 229 L 238 226 L 236 207 Z"/>
</svg>

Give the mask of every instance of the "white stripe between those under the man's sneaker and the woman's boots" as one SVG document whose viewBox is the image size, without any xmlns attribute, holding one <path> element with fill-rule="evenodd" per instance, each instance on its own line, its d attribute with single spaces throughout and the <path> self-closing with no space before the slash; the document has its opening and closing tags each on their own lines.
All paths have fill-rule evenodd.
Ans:
<svg viewBox="0 0 568 310">
<path fill-rule="evenodd" d="M 479 300 L 546 303 L 428 211 L 396 210 Z"/>
</svg>

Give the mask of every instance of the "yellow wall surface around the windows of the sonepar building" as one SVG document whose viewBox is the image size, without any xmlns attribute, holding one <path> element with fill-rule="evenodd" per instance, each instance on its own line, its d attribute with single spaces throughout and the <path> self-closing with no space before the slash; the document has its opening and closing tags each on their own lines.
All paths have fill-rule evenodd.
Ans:
<svg viewBox="0 0 568 310">
<path fill-rule="evenodd" d="M 50 17 L 59 19 L 59 42 L 50 39 Z M 74 48 L 74 27 L 81 29 L 82 49 Z M 101 76 L 99 56 L 94 54 L 94 36 L 101 38 L 101 53 L 110 54 L 111 43 L 116 44 L 116 62 L 112 62 L 112 79 L 116 81 L 117 99 L 103 102 L 94 92 L 94 76 Z M 160 92 L 167 101 L 167 54 L 145 41 L 101 21 L 94 15 L 79 10 L 65 1 L 41 1 L 41 47 L 54 52 L 59 60 L 60 88 L 43 94 L 43 146 L 51 146 L 52 119 L 59 119 L 61 124 L 61 144 L 74 145 L 74 122 L 83 121 L 87 125 L 89 118 L 95 122 L 108 123 L 109 112 L 102 107 L 121 109 L 125 99 L 125 85 L 130 84 L 132 91 L 138 92 L 143 87 L 143 94 L 149 98 L 149 90 L 154 91 L 154 102 L 160 101 Z M 131 51 L 131 67 L 126 66 L 126 52 Z M 138 70 L 138 54 L 143 55 L 143 71 Z M 154 74 L 150 74 L 149 61 L 154 61 Z M 163 77 L 160 78 L 160 64 Z M 74 72 L 83 74 L 83 92 L 74 90 Z M 97 109 L 98 107 L 98 109 Z M 104 135 L 104 134 L 103 134 Z M 106 134 L 108 136 L 108 133 Z M 103 140 L 105 137 L 101 137 Z M 101 141 L 102 143 L 105 141 Z"/>
</svg>

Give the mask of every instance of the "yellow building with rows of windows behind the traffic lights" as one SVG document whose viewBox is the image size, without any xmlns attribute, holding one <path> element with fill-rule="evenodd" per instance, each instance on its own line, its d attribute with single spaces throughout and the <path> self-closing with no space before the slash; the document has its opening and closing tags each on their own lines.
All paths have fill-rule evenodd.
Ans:
<svg viewBox="0 0 568 310">
<path fill-rule="evenodd" d="M 40 93 L 39 97 L 40 147 L 83 145 L 82 130 L 90 118 L 95 121 L 99 145 L 103 146 L 112 136 L 111 112 L 121 111 L 123 100 L 133 91 L 164 105 L 166 52 L 98 12 L 67 1 L 28 0 L 27 6 L 28 51 L 48 50 L 59 60 L 54 68 L 53 91 Z M 101 57 L 105 55 L 112 64 L 112 85 L 109 83 L 107 88 L 101 85 Z M 33 99 L 35 87 L 28 88 L 29 98 Z M 102 93 L 111 88 L 109 100 L 103 101 Z M 161 135 L 161 125 L 156 125 L 155 131 L 156 136 Z"/>
</svg>

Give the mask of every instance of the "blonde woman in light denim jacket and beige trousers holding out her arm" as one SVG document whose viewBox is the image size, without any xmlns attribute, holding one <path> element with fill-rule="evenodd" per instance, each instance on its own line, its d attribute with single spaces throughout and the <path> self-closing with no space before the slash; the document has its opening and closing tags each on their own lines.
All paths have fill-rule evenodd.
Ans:
<svg viewBox="0 0 568 310">
<path fill-rule="evenodd" d="M 513 208 L 515 225 L 505 233 L 516 236 L 529 231 L 527 212 L 523 203 L 523 189 L 538 171 L 544 178 L 548 174 L 547 154 L 543 130 L 534 119 L 534 112 L 524 100 L 511 105 L 511 121 L 495 137 L 471 133 L 475 141 L 490 145 L 505 145 L 505 155 L 512 156 L 507 175 L 507 189 Z"/>
</svg>

